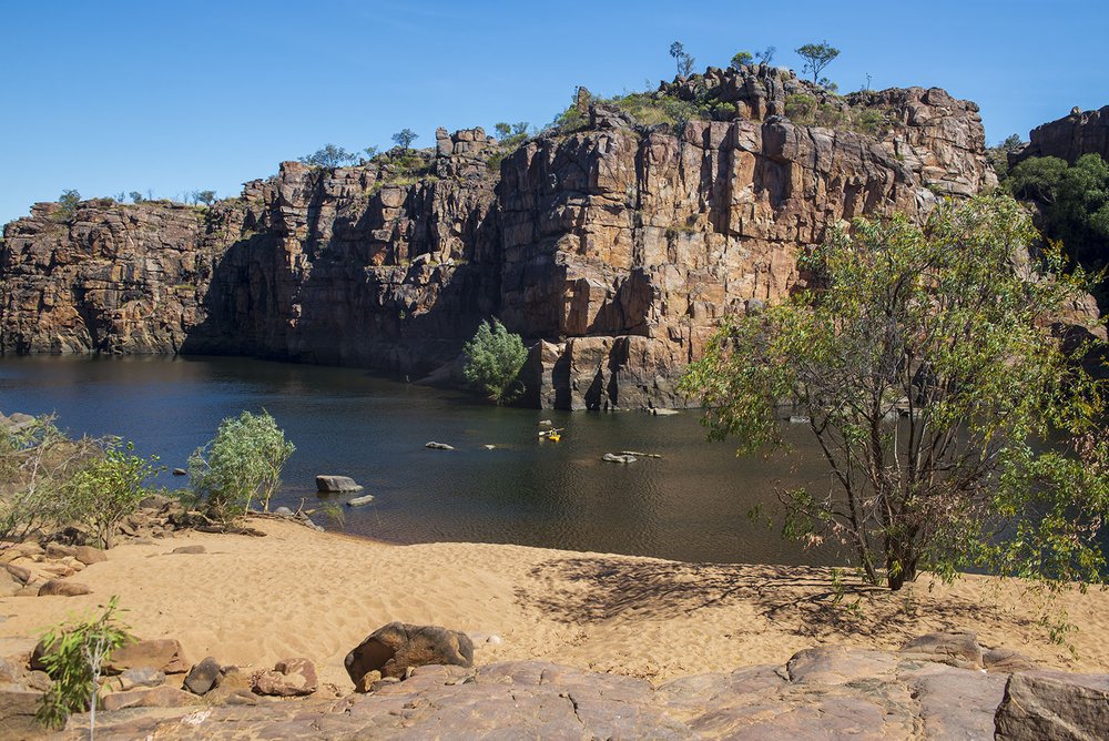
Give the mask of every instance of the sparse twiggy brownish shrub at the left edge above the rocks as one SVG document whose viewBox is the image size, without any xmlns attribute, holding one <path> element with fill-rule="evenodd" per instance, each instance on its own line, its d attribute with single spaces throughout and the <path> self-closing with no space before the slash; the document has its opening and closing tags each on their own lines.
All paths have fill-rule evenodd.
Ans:
<svg viewBox="0 0 1109 741">
<path fill-rule="evenodd" d="M 67 485 L 102 449 L 98 439 L 70 439 L 51 416 L 0 430 L 0 546 L 68 521 Z"/>
</svg>

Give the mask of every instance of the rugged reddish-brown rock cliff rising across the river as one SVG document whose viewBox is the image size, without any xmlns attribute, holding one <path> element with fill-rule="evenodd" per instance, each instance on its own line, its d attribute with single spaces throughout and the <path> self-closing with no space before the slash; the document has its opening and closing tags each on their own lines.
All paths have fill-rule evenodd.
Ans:
<svg viewBox="0 0 1109 741">
<path fill-rule="evenodd" d="M 659 94 L 732 108 L 675 134 L 593 104 L 584 130 L 511 152 L 440 130 L 434 150 L 360 166 L 284 163 L 211 209 L 37 204 L 4 229 L 0 351 L 442 378 L 496 315 L 532 345 L 532 404 L 680 406 L 674 383 L 720 318 L 787 295 L 831 225 L 993 182 L 977 108 L 938 89 L 841 99 L 755 67 Z M 838 128 L 783 115 L 804 98 Z M 843 125 L 863 110 L 877 125 Z"/>
</svg>

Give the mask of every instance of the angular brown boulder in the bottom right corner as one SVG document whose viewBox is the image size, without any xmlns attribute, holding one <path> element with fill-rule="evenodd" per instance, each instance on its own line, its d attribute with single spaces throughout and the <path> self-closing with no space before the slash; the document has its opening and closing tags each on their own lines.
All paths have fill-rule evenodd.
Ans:
<svg viewBox="0 0 1109 741">
<path fill-rule="evenodd" d="M 1109 735 L 1109 674 L 1017 672 L 994 717 L 997 741 L 1096 741 Z"/>
</svg>

